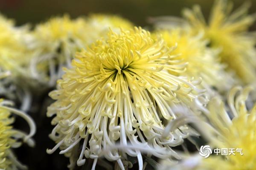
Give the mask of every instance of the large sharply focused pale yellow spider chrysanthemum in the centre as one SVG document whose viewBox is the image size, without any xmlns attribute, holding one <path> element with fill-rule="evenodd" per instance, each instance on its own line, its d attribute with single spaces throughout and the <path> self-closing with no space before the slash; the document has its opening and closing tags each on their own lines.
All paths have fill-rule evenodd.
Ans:
<svg viewBox="0 0 256 170">
<path fill-rule="evenodd" d="M 153 40 L 148 31 L 135 27 L 119 34 L 109 31 L 107 38 L 78 53 L 73 67 L 58 80 L 57 90 L 49 94 L 57 100 L 47 116 L 56 114 L 50 137 L 58 144 L 47 152 L 59 147 L 70 156 L 70 168 L 78 152 L 78 165 L 84 164 L 85 156 L 94 159 L 94 168 L 98 157 L 105 156 L 117 160 L 122 170 L 126 154 L 137 156 L 142 169 L 141 149 L 160 158 L 177 157 L 171 147 L 180 144 L 189 129 L 163 134 L 165 122 L 177 117 L 172 107 L 189 105 L 202 91 L 195 87 L 198 81 L 168 73 L 184 70 L 172 50 L 162 39 Z"/>
</svg>

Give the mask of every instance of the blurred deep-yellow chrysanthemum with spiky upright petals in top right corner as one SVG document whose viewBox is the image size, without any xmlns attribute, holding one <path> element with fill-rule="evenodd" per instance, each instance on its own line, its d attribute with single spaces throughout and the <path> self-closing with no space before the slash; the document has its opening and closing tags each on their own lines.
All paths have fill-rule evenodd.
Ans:
<svg viewBox="0 0 256 170">
<path fill-rule="evenodd" d="M 221 61 L 226 63 L 245 84 L 256 82 L 255 38 L 247 33 L 255 17 L 247 15 L 245 4 L 231 13 L 232 3 L 216 0 L 209 23 L 204 20 L 200 7 L 186 9 L 184 15 L 195 33 L 203 30 L 210 46 L 221 49 Z"/>
</svg>

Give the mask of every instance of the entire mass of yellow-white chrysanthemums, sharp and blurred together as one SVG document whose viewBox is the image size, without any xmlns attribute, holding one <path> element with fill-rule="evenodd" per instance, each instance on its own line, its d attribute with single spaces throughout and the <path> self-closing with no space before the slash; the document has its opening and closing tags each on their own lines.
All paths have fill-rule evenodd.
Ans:
<svg viewBox="0 0 256 170">
<path fill-rule="evenodd" d="M 256 106 L 248 96 L 256 88 L 256 51 L 248 28 L 255 17 L 247 10 L 232 12 L 231 3 L 216 0 L 208 23 L 195 6 L 183 19 L 155 18 L 152 34 L 115 15 L 64 15 L 33 28 L 0 16 L 0 96 L 32 111 L 32 97 L 49 93 L 56 145 L 47 153 L 60 149 L 70 169 L 93 159 L 94 170 L 104 157 L 125 170 L 135 157 L 143 170 L 152 157 L 172 162 L 160 169 L 254 170 Z M 35 123 L 12 104 L 0 99 L 4 170 L 26 168 L 12 151 L 20 139 L 34 144 Z M 13 129 L 11 113 L 29 123 L 29 135 Z M 244 155 L 204 159 L 174 150 L 200 135 L 209 149 L 242 148 Z"/>
</svg>

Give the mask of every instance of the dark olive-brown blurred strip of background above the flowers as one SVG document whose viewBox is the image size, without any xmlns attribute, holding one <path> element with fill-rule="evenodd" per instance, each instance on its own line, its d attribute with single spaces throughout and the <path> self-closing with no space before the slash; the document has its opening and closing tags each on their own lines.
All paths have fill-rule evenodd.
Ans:
<svg viewBox="0 0 256 170">
<path fill-rule="evenodd" d="M 233 0 L 235 7 L 244 0 Z M 255 12 L 256 0 L 250 12 Z M 14 18 L 18 25 L 38 23 L 47 18 L 70 14 L 78 17 L 90 13 L 119 14 L 138 26 L 145 26 L 149 16 L 175 15 L 180 16 L 184 7 L 200 4 L 206 16 L 209 14 L 213 0 L 0 0 L 0 12 Z"/>
</svg>

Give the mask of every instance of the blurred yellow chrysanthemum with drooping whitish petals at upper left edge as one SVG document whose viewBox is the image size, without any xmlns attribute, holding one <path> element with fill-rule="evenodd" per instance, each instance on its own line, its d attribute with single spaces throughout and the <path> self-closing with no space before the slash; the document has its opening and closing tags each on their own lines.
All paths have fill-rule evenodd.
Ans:
<svg viewBox="0 0 256 170">
<path fill-rule="evenodd" d="M 29 52 L 29 29 L 16 27 L 12 20 L 0 15 L 0 71 L 8 71 L 11 76 L 0 80 L 0 94 L 9 99 L 29 100 L 29 86 L 34 85 L 29 74 L 31 55 Z M 27 109 L 29 102 L 22 107 Z"/>
</svg>

